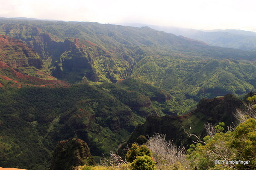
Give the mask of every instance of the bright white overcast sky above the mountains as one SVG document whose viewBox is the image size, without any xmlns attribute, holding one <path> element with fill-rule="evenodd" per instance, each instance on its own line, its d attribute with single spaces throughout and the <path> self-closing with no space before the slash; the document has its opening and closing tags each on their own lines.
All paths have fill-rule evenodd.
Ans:
<svg viewBox="0 0 256 170">
<path fill-rule="evenodd" d="M 256 32 L 254 0 L 0 0 L 0 17 Z"/>
</svg>

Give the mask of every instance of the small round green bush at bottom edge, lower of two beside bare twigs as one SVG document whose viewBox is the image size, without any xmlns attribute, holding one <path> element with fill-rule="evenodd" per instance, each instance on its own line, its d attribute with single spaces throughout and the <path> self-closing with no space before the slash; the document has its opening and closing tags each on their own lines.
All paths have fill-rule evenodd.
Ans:
<svg viewBox="0 0 256 170">
<path fill-rule="evenodd" d="M 144 155 L 144 156 L 138 156 L 137 159 L 135 159 L 132 162 L 132 170 L 155 170 L 156 169 L 156 162 L 153 160 L 153 158 Z"/>
</svg>

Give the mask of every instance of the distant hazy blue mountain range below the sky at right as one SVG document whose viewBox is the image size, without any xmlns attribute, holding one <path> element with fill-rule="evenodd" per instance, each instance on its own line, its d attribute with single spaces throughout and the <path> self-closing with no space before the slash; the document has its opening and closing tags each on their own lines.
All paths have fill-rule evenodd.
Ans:
<svg viewBox="0 0 256 170">
<path fill-rule="evenodd" d="M 148 26 L 152 29 L 182 35 L 191 39 L 203 41 L 211 46 L 234 48 L 242 50 L 256 50 L 256 32 L 235 29 L 197 30 L 184 29 L 174 26 L 156 26 L 139 23 L 121 23 L 125 26 L 142 27 Z"/>
</svg>

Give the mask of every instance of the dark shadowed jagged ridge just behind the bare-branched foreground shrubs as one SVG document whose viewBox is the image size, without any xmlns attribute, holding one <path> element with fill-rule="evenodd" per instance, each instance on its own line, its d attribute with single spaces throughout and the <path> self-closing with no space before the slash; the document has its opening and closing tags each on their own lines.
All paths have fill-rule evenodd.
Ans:
<svg viewBox="0 0 256 170">
<path fill-rule="evenodd" d="M 166 140 L 172 140 L 178 146 L 192 144 L 194 137 L 188 137 L 185 130 L 190 130 L 191 134 L 196 134 L 203 138 L 206 135 L 204 124 L 218 124 L 224 122 L 227 127 L 233 126 L 236 119 L 233 113 L 236 109 L 244 106 L 243 101 L 234 95 L 227 94 L 221 98 L 202 99 L 197 104 L 196 109 L 183 116 L 154 116 L 150 115 L 144 124 L 138 125 L 128 143 L 133 143 L 140 135 L 150 135 L 154 133 L 166 134 Z"/>
</svg>

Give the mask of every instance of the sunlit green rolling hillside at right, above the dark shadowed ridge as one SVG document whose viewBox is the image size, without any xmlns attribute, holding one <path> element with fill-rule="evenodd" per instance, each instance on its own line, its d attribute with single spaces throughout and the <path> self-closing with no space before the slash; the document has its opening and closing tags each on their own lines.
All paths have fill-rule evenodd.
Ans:
<svg viewBox="0 0 256 170">
<path fill-rule="evenodd" d="M 146 57 L 134 67 L 131 77 L 168 91 L 179 102 L 179 113 L 184 113 L 201 98 L 250 92 L 256 85 L 255 71 L 250 61 Z"/>
</svg>

